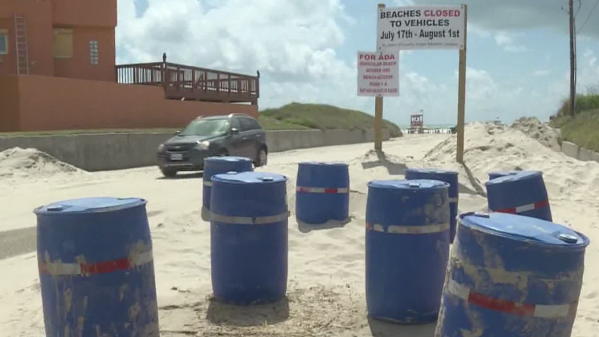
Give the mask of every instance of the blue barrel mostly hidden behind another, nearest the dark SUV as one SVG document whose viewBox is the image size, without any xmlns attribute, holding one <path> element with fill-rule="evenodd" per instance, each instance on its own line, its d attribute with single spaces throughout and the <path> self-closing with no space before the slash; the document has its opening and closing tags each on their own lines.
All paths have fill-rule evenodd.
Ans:
<svg viewBox="0 0 599 337">
<path fill-rule="evenodd" d="M 208 157 L 204 159 L 204 175 L 202 182 L 202 219 L 210 221 L 210 191 L 212 190 L 211 177 L 214 174 L 227 172 L 252 171 L 252 160 L 246 157 Z"/>
</svg>

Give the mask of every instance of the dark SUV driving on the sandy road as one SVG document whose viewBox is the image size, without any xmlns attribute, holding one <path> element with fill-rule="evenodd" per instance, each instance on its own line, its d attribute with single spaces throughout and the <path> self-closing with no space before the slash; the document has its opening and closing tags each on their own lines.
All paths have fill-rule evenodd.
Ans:
<svg viewBox="0 0 599 337">
<path fill-rule="evenodd" d="M 166 177 L 178 171 L 201 171 L 204 158 L 213 156 L 250 158 L 254 166 L 267 163 L 266 134 L 258 121 L 242 113 L 200 116 L 158 146 L 158 167 Z"/>
</svg>

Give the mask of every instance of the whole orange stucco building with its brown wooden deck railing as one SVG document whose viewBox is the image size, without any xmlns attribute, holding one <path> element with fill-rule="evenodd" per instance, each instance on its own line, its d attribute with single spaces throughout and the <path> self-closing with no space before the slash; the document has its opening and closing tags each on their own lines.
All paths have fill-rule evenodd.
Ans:
<svg viewBox="0 0 599 337">
<path fill-rule="evenodd" d="M 117 0 L 0 1 L 0 131 L 181 127 L 198 115 L 258 113 L 257 76 L 165 58 L 117 66 Z"/>
</svg>

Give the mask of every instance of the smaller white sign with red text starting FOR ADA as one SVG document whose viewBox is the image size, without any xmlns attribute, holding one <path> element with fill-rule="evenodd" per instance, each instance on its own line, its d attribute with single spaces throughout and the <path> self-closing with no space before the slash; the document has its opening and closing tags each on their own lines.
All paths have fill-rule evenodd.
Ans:
<svg viewBox="0 0 599 337">
<path fill-rule="evenodd" d="M 358 52 L 358 96 L 399 96 L 399 54 Z"/>
</svg>

